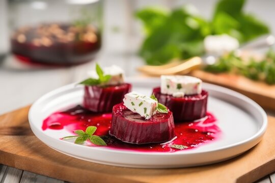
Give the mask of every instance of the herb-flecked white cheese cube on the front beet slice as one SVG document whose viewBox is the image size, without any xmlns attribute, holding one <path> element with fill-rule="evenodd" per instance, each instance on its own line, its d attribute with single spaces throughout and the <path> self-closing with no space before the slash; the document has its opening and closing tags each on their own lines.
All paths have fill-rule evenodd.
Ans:
<svg viewBox="0 0 275 183">
<path fill-rule="evenodd" d="M 132 112 L 139 113 L 145 119 L 150 119 L 156 113 L 157 101 L 137 92 L 124 96 L 124 105 Z"/>
</svg>

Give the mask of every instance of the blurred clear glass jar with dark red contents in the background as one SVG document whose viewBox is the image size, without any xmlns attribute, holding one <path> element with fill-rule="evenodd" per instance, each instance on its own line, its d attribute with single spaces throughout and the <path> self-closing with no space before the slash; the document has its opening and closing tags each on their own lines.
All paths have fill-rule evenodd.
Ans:
<svg viewBox="0 0 275 183">
<path fill-rule="evenodd" d="M 11 52 L 26 63 L 76 65 L 101 47 L 102 1 L 9 0 Z"/>
</svg>

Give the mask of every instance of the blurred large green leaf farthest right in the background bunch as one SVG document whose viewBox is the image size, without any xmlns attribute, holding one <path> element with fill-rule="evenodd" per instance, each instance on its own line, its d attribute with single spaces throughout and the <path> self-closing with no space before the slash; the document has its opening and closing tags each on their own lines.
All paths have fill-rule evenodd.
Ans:
<svg viewBox="0 0 275 183">
<path fill-rule="evenodd" d="M 212 20 L 213 34 L 228 34 L 247 42 L 269 33 L 267 25 L 243 11 L 245 0 L 220 0 Z"/>
</svg>

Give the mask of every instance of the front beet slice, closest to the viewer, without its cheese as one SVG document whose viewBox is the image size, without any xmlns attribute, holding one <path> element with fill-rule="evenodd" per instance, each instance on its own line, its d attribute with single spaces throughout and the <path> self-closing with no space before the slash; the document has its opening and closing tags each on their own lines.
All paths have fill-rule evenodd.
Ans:
<svg viewBox="0 0 275 183">
<path fill-rule="evenodd" d="M 173 115 L 171 111 L 156 113 L 146 120 L 120 103 L 113 108 L 109 134 L 123 142 L 135 144 L 169 141 L 175 137 Z"/>
</svg>

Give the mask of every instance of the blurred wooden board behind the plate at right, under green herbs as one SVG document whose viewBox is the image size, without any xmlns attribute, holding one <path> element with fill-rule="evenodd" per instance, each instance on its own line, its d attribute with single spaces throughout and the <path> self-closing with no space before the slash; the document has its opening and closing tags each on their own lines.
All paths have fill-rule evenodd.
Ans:
<svg viewBox="0 0 275 183">
<path fill-rule="evenodd" d="M 234 74 L 212 74 L 201 70 L 190 73 L 191 76 L 201 78 L 203 81 L 231 88 L 248 96 L 266 109 L 275 111 L 275 84 L 268 85 L 257 82 L 244 76 Z"/>
</svg>

